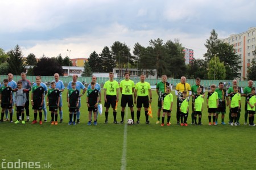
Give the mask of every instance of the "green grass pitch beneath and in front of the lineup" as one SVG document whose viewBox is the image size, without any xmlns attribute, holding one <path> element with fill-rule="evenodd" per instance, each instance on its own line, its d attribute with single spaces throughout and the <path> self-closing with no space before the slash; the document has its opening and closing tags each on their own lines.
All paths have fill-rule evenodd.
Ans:
<svg viewBox="0 0 256 170">
<path fill-rule="evenodd" d="M 112 109 L 109 110 L 109 124 L 104 124 L 104 109 L 103 114 L 98 116 L 98 125 L 88 126 L 88 111 L 84 95 L 82 96 L 81 124 L 68 126 L 66 94 L 67 90 L 63 92 L 63 124 L 51 125 L 49 112 L 48 122 L 43 125 L 31 125 L 31 122 L 25 125 L 9 122 L 0 124 L 1 166 L 7 167 L 8 163 L 11 166 L 19 160 L 25 163 L 39 162 L 40 168 L 51 165 L 48 167 L 51 169 L 256 168 L 256 129 L 243 125 L 245 97 L 242 97 L 240 126 L 228 124 L 209 126 L 205 101 L 203 125 L 191 125 L 190 111 L 189 125 L 185 127 L 176 125 L 176 96 L 174 95 L 172 125 L 162 127 L 160 124 L 155 124 L 158 97 L 155 91 L 152 91 L 154 117 L 150 118 L 151 124 L 145 124 L 142 108 L 141 124 L 133 126 L 113 124 Z M 121 121 L 119 105 L 120 102 L 117 120 Z M 191 101 L 189 105 L 191 109 Z M 134 111 L 135 121 L 137 121 L 137 109 L 134 108 Z M 33 118 L 31 109 L 30 120 Z M 126 120 L 130 118 L 129 109 L 126 110 L 125 118 Z M 220 123 L 220 117 L 218 120 Z M 16 113 L 14 113 L 14 121 L 16 121 Z M 225 122 L 228 123 L 228 114 Z"/>
</svg>

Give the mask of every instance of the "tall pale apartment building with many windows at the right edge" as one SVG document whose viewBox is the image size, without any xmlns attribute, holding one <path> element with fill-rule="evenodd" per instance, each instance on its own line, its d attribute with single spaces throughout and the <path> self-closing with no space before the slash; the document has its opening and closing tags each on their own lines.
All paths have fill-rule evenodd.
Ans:
<svg viewBox="0 0 256 170">
<path fill-rule="evenodd" d="M 247 66 L 250 66 L 251 59 L 253 59 L 253 51 L 256 45 L 256 27 L 250 27 L 247 31 L 232 34 L 226 39 L 221 39 L 234 46 L 236 54 L 241 58 L 241 70 L 237 70 L 241 75 L 241 79 L 245 80 L 247 76 Z"/>
</svg>

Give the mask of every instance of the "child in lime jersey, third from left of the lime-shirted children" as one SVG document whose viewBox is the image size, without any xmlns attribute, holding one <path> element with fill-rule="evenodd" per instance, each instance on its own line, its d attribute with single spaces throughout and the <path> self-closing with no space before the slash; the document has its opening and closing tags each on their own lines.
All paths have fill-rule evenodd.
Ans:
<svg viewBox="0 0 256 170">
<path fill-rule="evenodd" d="M 197 94 L 195 95 L 195 98 L 193 98 L 193 111 L 195 112 L 195 116 L 194 116 L 194 121 L 195 121 L 195 125 L 196 123 L 196 116 L 198 114 L 198 125 L 201 125 L 201 118 L 202 118 L 202 112 L 203 112 L 203 103 L 204 103 L 204 98 L 203 95 L 201 95 L 201 87 L 197 88 Z"/>
</svg>

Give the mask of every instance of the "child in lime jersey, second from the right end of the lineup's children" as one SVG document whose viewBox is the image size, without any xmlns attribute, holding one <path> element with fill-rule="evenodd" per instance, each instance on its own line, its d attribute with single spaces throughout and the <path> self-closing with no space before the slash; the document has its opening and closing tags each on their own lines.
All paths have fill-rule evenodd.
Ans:
<svg viewBox="0 0 256 170">
<path fill-rule="evenodd" d="M 241 106 L 241 94 L 238 93 L 238 87 L 233 86 L 234 92 L 230 94 L 229 109 L 231 109 L 231 126 L 237 126 L 237 113 Z M 233 123 L 234 121 L 234 123 Z"/>
</svg>

